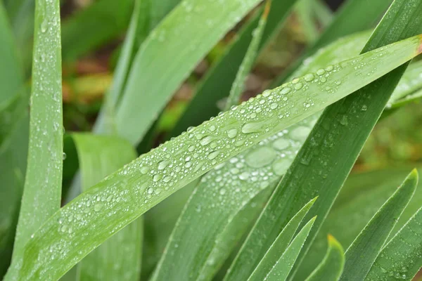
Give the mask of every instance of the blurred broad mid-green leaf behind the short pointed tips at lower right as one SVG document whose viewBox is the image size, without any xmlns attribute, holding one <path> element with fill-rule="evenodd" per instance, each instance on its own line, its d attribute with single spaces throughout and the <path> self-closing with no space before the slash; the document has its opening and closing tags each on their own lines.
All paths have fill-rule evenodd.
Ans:
<svg viewBox="0 0 422 281">
<path fill-rule="evenodd" d="M 318 266 L 323 259 L 327 247 L 326 235 L 333 233 L 342 241 L 344 247 L 349 247 L 361 233 L 364 226 L 376 214 L 378 209 L 397 190 L 411 168 L 385 169 L 352 174 L 341 190 L 335 204 L 321 226 L 312 247 L 309 249 L 294 280 L 305 280 L 307 275 Z M 411 202 L 400 216 L 392 235 L 404 226 L 421 205 L 422 183 L 419 181 Z"/>
</svg>

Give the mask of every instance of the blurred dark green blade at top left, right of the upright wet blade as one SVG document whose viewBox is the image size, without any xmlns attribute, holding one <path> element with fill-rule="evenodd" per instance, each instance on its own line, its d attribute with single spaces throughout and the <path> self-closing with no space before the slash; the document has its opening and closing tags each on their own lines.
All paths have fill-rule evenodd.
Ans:
<svg viewBox="0 0 422 281">
<path fill-rule="evenodd" d="M 65 20 L 63 60 L 75 60 L 117 37 L 127 27 L 132 8 L 132 0 L 100 0 Z"/>
</svg>

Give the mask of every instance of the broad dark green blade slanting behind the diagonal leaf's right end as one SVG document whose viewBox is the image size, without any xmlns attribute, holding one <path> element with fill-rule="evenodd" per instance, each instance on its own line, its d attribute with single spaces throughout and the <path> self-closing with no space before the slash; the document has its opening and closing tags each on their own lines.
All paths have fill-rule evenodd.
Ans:
<svg viewBox="0 0 422 281">
<path fill-rule="evenodd" d="M 371 46 L 366 45 L 364 51 L 420 32 L 420 15 L 420 1 L 395 1 L 369 39 Z M 392 30 L 390 25 L 401 28 Z M 228 278 L 244 279 L 247 272 L 239 270 L 241 266 L 245 263 L 255 266 L 291 214 L 319 195 L 321 201 L 316 202 L 316 208 L 310 212 L 319 216 L 311 234 L 314 237 L 406 66 L 324 110 L 243 244 Z M 312 240 L 308 240 L 303 253 Z"/>
</svg>

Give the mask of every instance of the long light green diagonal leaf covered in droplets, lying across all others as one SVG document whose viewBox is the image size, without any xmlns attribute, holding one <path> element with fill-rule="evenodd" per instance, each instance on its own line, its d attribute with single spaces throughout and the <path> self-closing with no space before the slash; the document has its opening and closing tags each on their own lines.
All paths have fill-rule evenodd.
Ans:
<svg viewBox="0 0 422 281">
<path fill-rule="evenodd" d="M 295 79 L 141 155 L 51 216 L 27 243 L 23 256 L 15 261 L 22 265 L 19 277 L 21 280 L 60 277 L 117 230 L 217 164 L 402 65 L 416 55 L 420 40 L 420 37 L 412 37 L 382 51 L 375 50 L 328 67 L 326 80 L 318 74 L 312 74 L 312 81 L 307 81 L 310 75 L 306 79 Z M 352 79 L 354 67 L 361 63 L 364 65 L 357 73 L 371 70 L 371 75 L 352 76 Z M 319 79 L 326 82 L 321 84 Z M 341 81 L 340 85 L 335 81 Z M 327 94 L 328 85 L 333 88 Z M 291 106 L 295 108 L 293 112 L 289 110 Z M 110 195 L 114 201 L 93 211 L 94 197 Z M 69 216 L 73 219 L 69 223 L 72 233 L 62 233 L 58 221 L 60 218 L 68 220 Z M 49 249 L 64 254 L 50 259 Z"/>
</svg>

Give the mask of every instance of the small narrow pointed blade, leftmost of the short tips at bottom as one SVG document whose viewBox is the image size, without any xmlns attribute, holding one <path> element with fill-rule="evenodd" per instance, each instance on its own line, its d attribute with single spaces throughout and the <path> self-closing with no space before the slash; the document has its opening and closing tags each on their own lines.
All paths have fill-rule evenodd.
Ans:
<svg viewBox="0 0 422 281">
<path fill-rule="evenodd" d="M 286 251 L 290 241 L 294 237 L 296 230 L 298 230 L 300 223 L 303 221 L 303 218 L 309 211 L 309 209 L 314 204 L 316 198 L 311 200 L 308 204 L 305 205 L 298 214 L 295 214 L 293 218 L 288 222 L 285 228 L 281 231 L 279 236 L 276 238 L 274 243 L 268 249 L 265 256 L 262 258 L 258 266 L 253 270 L 252 274 L 248 278 L 248 281 L 253 280 L 265 280 L 265 277 L 271 271 L 272 268 L 278 263 L 281 254 Z"/>
</svg>

